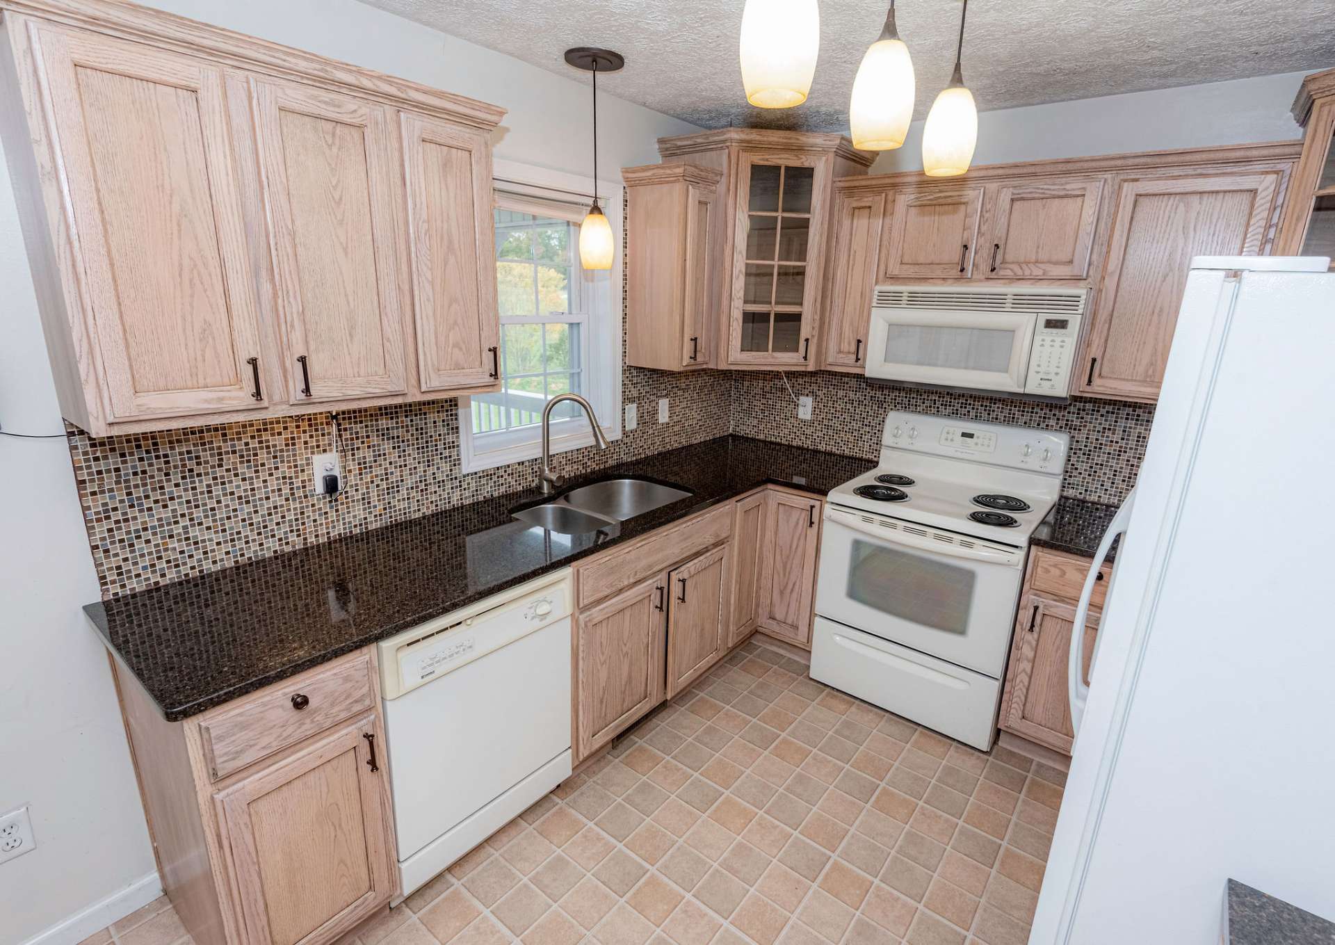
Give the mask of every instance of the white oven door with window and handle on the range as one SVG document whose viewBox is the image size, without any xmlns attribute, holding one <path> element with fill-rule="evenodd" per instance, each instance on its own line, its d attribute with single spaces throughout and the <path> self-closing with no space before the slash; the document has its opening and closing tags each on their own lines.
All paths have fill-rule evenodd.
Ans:
<svg viewBox="0 0 1335 945">
<path fill-rule="evenodd" d="M 826 506 L 816 613 L 1000 678 L 1024 549 Z"/>
</svg>

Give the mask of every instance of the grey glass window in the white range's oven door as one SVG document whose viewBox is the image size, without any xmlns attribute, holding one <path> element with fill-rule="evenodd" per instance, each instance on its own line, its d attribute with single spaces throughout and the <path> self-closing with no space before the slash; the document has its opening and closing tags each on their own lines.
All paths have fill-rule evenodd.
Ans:
<svg viewBox="0 0 1335 945">
<path fill-rule="evenodd" d="M 848 595 L 901 621 L 963 635 L 976 577 L 967 567 L 854 538 Z"/>
</svg>

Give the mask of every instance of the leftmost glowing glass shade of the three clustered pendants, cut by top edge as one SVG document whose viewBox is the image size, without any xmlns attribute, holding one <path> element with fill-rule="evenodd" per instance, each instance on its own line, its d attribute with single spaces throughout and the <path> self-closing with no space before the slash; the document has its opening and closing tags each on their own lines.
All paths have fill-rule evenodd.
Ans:
<svg viewBox="0 0 1335 945">
<path fill-rule="evenodd" d="M 749 103 L 757 108 L 802 104 L 821 49 L 816 0 L 746 0 L 740 45 Z"/>
</svg>

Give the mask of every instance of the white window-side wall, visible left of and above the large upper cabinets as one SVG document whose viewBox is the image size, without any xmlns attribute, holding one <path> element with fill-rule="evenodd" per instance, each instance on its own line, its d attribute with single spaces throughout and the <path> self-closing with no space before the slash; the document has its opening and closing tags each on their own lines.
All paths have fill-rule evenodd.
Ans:
<svg viewBox="0 0 1335 945">
<path fill-rule="evenodd" d="M 155 5 L 502 105 L 510 112 L 498 133 L 499 156 L 591 174 L 587 85 L 352 0 Z M 614 85 L 611 79 L 599 89 L 599 170 L 613 180 L 615 168 L 654 162 L 655 137 L 696 131 L 602 95 Z M 0 286 L 0 427 L 59 432 L 4 168 Z M 97 594 L 64 442 L 0 436 L 0 630 L 7 659 L 0 671 L 0 813 L 31 804 L 37 838 L 33 853 L 0 865 L 0 945 L 47 930 L 52 934 L 44 944 L 77 942 L 159 892 L 111 674 L 79 610 Z M 117 894 L 100 912 L 79 917 Z M 60 925 L 71 917 L 72 924 Z"/>
</svg>

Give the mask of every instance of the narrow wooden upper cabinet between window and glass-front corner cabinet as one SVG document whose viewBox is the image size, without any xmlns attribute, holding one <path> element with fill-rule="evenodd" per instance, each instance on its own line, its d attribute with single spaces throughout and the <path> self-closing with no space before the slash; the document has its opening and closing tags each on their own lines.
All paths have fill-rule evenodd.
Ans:
<svg viewBox="0 0 1335 945">
<path fill-rule="evenodd" d="M 714 364 L 718 171 L 650 164 L 622 171 L 630 234 L 626 363 L 659 371 Z"/>
</svg>

